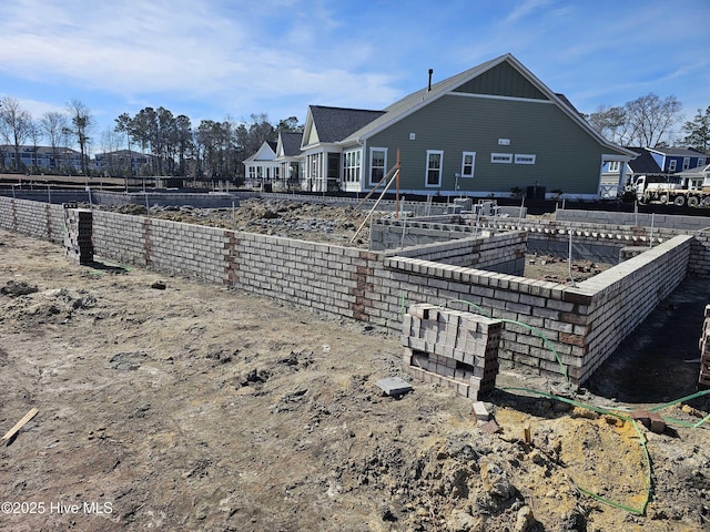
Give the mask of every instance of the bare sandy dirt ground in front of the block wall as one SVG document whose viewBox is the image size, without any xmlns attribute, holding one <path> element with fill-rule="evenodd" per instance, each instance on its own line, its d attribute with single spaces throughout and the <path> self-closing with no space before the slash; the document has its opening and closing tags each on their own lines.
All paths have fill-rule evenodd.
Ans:
<svg viewBox="0 0 710 532">
<path fill-rule="evenodd" d="M 701 531 L 708 423 L 639 433 L 503 371 L 471 401 L 363 324 L 0 231 L 1 531 Z M 407 378 L 407 380 L 410 380 Z M 585 405 L 632 409 L 579 390 Z M 686 423 L 688 405 L 662 412 Z M 529 423 L 530 443 L 524 427 Z M 601 502 L 641 509 L 643 515 Z M 584 490 L 584 491 L 582 491 Z M 8 503 L 10 503 L 8 505 Z"/>
</svg>

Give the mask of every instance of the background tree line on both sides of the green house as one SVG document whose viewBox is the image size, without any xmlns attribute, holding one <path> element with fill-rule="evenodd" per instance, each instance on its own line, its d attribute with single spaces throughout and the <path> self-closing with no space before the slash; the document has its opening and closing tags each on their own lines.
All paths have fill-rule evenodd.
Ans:
<svg viewBox="0 0 710 532">
<path fill-rule="evenodd" d="M 650 93 L 623 105 L 600 105 L 582 116 L 606 139 L 622 146 L 662 147 L 682 145 L 703 153 L 710 150 L 710 106 L 699 109 L 692 120 L 681 126 L 684 136 L 674 137 L 682 122 L 682 105 L 676 96 Z M 184 114 L 174 115 L 165 108 L 144 108 L 134 115 L 123 113 L 97 139 L 94 119 L 82 102 L 72 100 L 65 112 L 47 112 L 34 120 L 20 102 L 11 96 L 0 100 L 0 139 L 14 152 L 13 167 L 23 172 L 20 151 L 28 144 L 34 147 L 42 141 L 53 153 L 50 168 L 54 172 L 72 171 L 68 150 L 79 146 L 81 172 L 91 175 L 90 146 L 102 153 L 129 152 L 149 154 L 140 170 L 133 168 L 131 157 L 104 161 L 102 172 L 114 176 L 174 175 L 194 180 L 239 180 L 244 177 L 242 161 L 254 154 L 264 141 L 275 141 L 280 131 L 303 131 L 295 116 L 270 123 L 266 114 L 252 114 L 250 122 L 202 120 L 193 126 Z M 37 157 L 37 155 L 36 155 Z M 0 166 L 4 157 L 0 156 Z M 37 158 L 30 170 L 39 171 Z"/>
</svg>

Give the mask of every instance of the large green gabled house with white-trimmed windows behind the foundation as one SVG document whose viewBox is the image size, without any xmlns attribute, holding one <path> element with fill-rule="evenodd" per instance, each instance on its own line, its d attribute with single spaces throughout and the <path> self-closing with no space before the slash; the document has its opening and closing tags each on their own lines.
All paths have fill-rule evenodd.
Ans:
<svg viewBox="0 0 710 532">
<path fill-rule="evenodd" d="M 601 136 L 511 54 L 382 111 L 312 105 L 301 150 L 308 191 L 369 191 L 389 181 L 398 161 L 403 194 L 496 197 L 536 187 L 596 198 L 602 165 L 637 155 Z"/>
</svg>

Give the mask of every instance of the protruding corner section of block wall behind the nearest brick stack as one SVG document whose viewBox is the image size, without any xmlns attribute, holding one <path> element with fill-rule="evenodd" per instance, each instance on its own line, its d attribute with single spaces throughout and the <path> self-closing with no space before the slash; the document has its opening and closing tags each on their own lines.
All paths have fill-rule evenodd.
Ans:
<svg viewBox="0 0 710 532">
<path fill-rule="evenodd" d="M 463 299 L 506 320 L 500 358 L 513 367 L 564 375 L 561 362 L 582 382 L 682 280 L 691 239 L 678 236 L 576 287 L 398 256 L 385 267 L 399 273 L 408 301 Z"/>
</svg>

